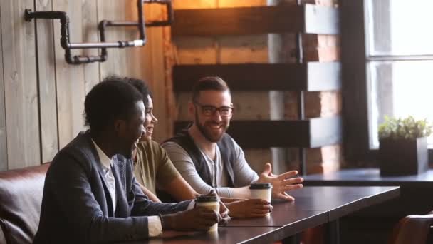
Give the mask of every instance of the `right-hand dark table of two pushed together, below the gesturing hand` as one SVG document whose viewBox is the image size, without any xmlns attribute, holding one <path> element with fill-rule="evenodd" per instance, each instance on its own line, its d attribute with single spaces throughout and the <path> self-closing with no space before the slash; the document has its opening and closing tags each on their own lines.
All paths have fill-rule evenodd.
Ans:
<svg viewBox="0 0 433 244">
<path fill-rule="evenodd" d="M 288 237 L 307 228 L 327 224 L 325 240 L 339 242 L 339 219 L 400 195 L 398 187 L 304 187 L 291 193 L 293 203 L 273 200 L 267 218 L 232 219 L 229 226 L 281 227 L 275 232 Z M 293 239 L 293 237 L 291 237 Z"/>
</svg>

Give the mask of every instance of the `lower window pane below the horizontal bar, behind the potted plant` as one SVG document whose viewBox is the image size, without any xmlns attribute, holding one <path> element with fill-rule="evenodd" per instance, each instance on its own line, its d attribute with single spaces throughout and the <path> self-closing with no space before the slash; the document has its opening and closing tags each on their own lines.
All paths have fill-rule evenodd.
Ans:
<svg viewBox="0 0 433 244">
<path fill-rule="evenodd" d="M 385 115 L 433 122 L 433 60 L 367 63 L 370 148 L 378 148 L 377 127 Z M 433 146 L 433 136 L 429 138 Z"/>
</svg>

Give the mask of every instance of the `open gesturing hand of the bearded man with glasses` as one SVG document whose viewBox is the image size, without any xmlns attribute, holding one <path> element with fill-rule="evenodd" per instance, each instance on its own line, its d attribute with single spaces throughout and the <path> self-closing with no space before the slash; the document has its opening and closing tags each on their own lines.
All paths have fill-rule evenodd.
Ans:
<svg viewBox="0 0 433 244">
<path fill-rule="evenodd" d="M 303 178 L 296 177 L 298 171 L 288 171 L 281 175 L 273 175 L 271 163 L 266 163 L 264 171 L 260 173 L 259 180 L 257 183 L 271 183 L 272 184 L 272 197 L 280 198 L 284 200 L 295 200 L 291 195 L 288 195 L 286 191 L 296 190 L 302 188 Z"/>
</svg>

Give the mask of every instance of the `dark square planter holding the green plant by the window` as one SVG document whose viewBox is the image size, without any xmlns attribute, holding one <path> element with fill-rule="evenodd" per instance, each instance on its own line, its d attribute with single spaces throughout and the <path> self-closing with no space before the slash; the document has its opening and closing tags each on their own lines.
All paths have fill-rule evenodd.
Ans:
<svg viewBox="0 0 433 244">
<path fill-rule="evenodd" d="M 381 176 L 416 175 L 428 170 L 427 137 L 417 139 L 380 139 Z"/>
</svg>

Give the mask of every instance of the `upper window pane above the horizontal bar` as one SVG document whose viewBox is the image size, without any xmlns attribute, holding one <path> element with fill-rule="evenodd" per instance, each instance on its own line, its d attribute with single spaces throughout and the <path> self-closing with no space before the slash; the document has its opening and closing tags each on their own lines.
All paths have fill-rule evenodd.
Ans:
<svg viewBox="0 0 433 244">
<path fill-rule="evenodd" d="M 432 0 L 365 1 L 367 55 L 433 54 Z"/>
</svg>

